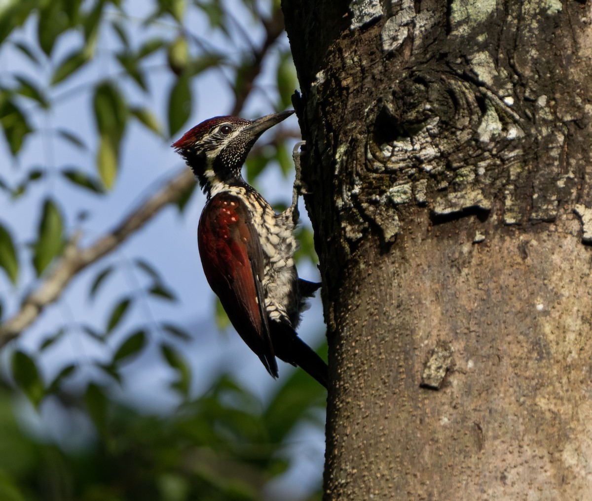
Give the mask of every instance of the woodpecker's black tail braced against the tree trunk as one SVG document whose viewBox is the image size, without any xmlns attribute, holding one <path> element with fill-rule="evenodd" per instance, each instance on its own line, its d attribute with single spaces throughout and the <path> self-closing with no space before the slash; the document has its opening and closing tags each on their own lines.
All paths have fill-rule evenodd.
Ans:
<svg viewBox="0 0 592 501">
<path fill-rule="evenodd" d="M 284 362 L 302 367 L 327 388 L 329 370 L 324 360 L 297 336 L 291 326 L 272 321 L 269 327 L 275 355 Z"/>
</svg>

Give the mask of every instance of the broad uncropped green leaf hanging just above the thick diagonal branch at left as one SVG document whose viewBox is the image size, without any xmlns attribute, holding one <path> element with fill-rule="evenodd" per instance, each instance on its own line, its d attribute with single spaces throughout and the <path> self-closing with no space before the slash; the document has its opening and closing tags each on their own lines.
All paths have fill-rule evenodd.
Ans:
<svg viewBox="0 0 592 501">
<path fill-rule="evenodd" d="M 43 204 L 43 214 L 37 231 L 37 242 L 34 245 L 33 265 L 37 276 L 43 273 L 50 262 L 62 252 L 63 222 L 59 209 L 52 200 Z"/>
</svg>

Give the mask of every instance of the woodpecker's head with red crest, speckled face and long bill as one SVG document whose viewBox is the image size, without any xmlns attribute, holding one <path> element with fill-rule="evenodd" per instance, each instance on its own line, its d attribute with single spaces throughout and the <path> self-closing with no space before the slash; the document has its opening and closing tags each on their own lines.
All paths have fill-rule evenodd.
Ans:
<svg viewBox="0 0 592 501">
<path fill-rule="evenodd" d="M 240 170 L 255 141 L 292 113 L 294 110 L 288 110 L 255 120 L 214 116 L 186 132 L 172 146 L 185 158 L 200 186 L 209 194 L 215 186 L 242 180 Z"/>
</svg>

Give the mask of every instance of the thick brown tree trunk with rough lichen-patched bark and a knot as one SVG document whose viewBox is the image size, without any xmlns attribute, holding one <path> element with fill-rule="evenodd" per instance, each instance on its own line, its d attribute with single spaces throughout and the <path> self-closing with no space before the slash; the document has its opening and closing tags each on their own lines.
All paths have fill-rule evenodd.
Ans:
<svg viewBox="0 0 592 501">
<path fill-rule="evenodd" d="M 324 499 L 590 499 L 591 4 L 302 3 Z"/>
</svg>

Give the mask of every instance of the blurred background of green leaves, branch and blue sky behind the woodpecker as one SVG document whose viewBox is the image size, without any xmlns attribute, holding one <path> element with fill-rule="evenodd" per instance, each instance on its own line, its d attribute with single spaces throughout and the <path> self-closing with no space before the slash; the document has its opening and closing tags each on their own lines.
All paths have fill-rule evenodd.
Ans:
<svg viewBox="0 0 592 501">
<path fill-rule="evenodd" d="M 206 341 L 228 322 L 182 254 L 203 200 L 169 148 L 296 88 L 279 1 L 0 1 L 0 499 L 320 499 L 324 389 L 287 367 L 253 386 L 255 356 L 243 378 Z M 278 209 L 291 123 L 247 161 Z"/>
</svg>

